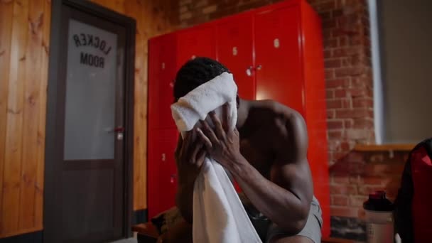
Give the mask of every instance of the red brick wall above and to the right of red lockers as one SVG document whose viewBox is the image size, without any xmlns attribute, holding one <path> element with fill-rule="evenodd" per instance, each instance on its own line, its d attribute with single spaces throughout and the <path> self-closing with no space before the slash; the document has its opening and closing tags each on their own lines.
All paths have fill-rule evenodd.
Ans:
<svg viewBox="0 0 432 243">
<path fill-rule="evenodd" d="M 175 26 L 185 28 L 257 8 L 271 0 L 180 0 Z M 323 23 L 328 105 L 332 234 L 365 239 L 362 202 L 374 190 L 394 199 L 406 153 L 356 152 L 374 143 L 369 14 L 365 0 L 308 0 Z"/>
</svg>

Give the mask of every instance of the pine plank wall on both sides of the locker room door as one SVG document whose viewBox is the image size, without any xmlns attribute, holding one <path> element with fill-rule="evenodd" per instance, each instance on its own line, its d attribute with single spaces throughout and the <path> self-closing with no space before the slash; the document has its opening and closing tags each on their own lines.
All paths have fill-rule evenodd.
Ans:
<svg viewBox="0 0 432 243">
<path fill-rule="evenodd" d="M 94 0 L 136 19 L 134 210 L 146 208 L 147 41 L 172 3 Z M 0 238 L 43 229 L 50 0 L 0 1 Z"/>
</svg>

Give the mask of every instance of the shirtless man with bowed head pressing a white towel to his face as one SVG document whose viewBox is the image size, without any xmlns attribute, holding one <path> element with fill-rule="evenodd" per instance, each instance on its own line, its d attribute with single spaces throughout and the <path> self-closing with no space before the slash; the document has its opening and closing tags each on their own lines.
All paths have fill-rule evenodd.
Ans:
<svg viewBox="0 0 432 243">
<path fill-rule="evenodd" d="M 175 100 L 222 72 L 229 70 L 209 58 L 188 61 L 175 78 Z M 227 106 L 224 109 L 227 114 Z M 202 121 L 201 129 L 190 131 L 184 141 L 179 139 L 176 204 L 189 223 L 179 228 L 191 234 L 193 185 L 205 156 L 210 155 L 242 188 L 240 198 L 263 242 L 319 243 L 321 211 L 313 197 L 303 117 L 272 100 L 239 97 L 237 113 L 234 131 L 227 129 L 227 116 L 218 119 L 210 112 L 207 119 L 214 129 Z"/>
</svg>

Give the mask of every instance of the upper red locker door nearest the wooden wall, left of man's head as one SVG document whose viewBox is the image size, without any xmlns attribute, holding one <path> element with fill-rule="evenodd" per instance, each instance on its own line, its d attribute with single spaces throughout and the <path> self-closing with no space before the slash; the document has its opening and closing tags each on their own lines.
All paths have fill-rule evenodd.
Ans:
<svg viewBox="0 0 432 243">
<path fill-rule="evenodd" d="M 148 127 L 173 128 L 170 106 L 175 79 L 175 33 L 152 38 L 148 53 Z"/>
</svg>

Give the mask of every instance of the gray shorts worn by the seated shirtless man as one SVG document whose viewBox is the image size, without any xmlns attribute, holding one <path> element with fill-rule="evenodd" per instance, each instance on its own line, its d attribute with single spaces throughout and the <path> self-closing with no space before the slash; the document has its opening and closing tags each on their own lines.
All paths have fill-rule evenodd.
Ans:
<svg viewBox="0 0 432 243">
<path fill-rule="evenodd" d="M 245 209 L 247 214 L 249 215 L 250 220 L 252 221 L 252 225 L 254 225 L 257 230 L 259 237 L 262 242 L 270 242 L 273 237 L 276 236 L 293 236 L 291 234 L 286 234 L 284 229 L 281 229 L 276 224 L 271 222 L 264 215 L 257 215 L 257 212 L 251 210 L 245 205 Z M 298 236 L 308 237 L 314 243 L 321 242 L 321 227 L 323 226 L 323 217 L 321 212 L 321 207 L 318 200 L 313 197 L 311 202 L 311 210 L 309 210 L 308 221 L 306 222 L 305 227 L 299 232 Z"/>
</svg>

